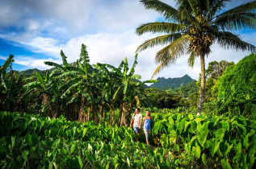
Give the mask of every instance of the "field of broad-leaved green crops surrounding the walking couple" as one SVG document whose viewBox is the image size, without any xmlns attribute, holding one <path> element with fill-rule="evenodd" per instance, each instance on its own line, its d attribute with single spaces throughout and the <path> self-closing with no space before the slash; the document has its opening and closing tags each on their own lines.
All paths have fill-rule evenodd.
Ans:
<svg viewBox="0 0 256 169">
<path fill-rule="evenodd" d="M 152 146 L 145 145 L 143 134 L 133 142 L 133 130 L 107 123 L 2 112 L 0 124 L 2 168 L 255 166 L 256 122 L 242 116 L 153 114 Z"/>
</svg>

